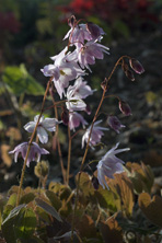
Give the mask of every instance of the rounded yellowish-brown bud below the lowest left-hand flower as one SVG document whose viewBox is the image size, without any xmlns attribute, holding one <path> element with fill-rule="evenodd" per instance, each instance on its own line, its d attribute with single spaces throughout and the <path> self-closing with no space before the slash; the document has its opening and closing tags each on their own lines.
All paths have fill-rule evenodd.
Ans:
<svg viewBox="0 0 162 243">
<path fill-rule="evenodd" d="M 40 161 L 34 167 L 34 173 L 38 178 L 47 176 L 48 172 L 49 172 L 49 164 L 47 161 Z"/>
</svg>

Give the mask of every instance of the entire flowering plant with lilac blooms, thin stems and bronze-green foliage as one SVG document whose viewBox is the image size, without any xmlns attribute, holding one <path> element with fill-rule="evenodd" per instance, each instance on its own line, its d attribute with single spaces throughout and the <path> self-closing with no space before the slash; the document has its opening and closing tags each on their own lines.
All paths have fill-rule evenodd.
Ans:
<svg viewBox="0 0 162 243">
<path fill-rule="evenodd" d="M 104 31 L 93 23 L 80 23 L 74 16 L 69 19 L 70 31 L 63 39 L 68 45 L 60 54 L 51 57 L 54 63 L 42 69 L 45 77 L 49 77 L 44 94 L 39 115 L 33 121 L 24 125 L 31 132 L 28 142 L 16 146 L 10 153 L 14 153 L 18 161 L 19 153 L 24 160 L 20 186 L 12 186 L 9 190 L 9 200 L 1 197 L 1 230 L 3 242 L 135 242 L 136 239 L 150 240 L 154 231 L 159 238 L 161 218 L 152 212 L 152 207 L 162 204 L 159 196 L 150 197 L 153 185 L 153 174 L 148 165 L 127 163 L 116 155 L 128 151 L 129 148 L 118 149 L 119 143 L 108 150 L 101 160 L 86 162 L 89 150 L 95 150 L 101 143 L 107 127 L 102 126 L 99 119 L 100 111 L 105 99 L 116 97 L 118 107 L 125 116 L 131 115 L 126 101 L 114 94 L 107 94 L 109 80 L 118 66 L 121 66 L 126 76 L 134 81 L 134 71 L 141 74 L 144 70 L 141 63 L 129 56 L 120 57 L 111 74 L 101 83 L 103 90 L 101 101 L 93 116 L 91 125 L 83 117 L 83 112 L 91 114 L 85 99 L 93 95 L 95 90 L 84 81 L 84 77 L 92 72 L 91 65 L 96 59 L 103 59 L 108 48 L 101 44 Z M 56 93 L 60 101 L 56 101 Z M 48 93 L 51 95 L 55 118 L 44 117 L 45 102 Z M 59 117 L 61 111 L 61 116 Z M 107 125 L 116 132 L 125 127 L 115 115 L 106 114 Z M 78 127 L 82 125 L 84 134 L 81 147 L 84 154 L 76 175 L 76 188 L 69 186 L 71 141 L 78 136 Z M 61 157 L 59 143 L 59 126 L 67 126 L 69 144 L 67 167 Z M 48 131 L 54 131 L 57 138 L 60 166 L 63 184 L 50 182 L 47 187 L 49 165 L 40 161 L 42 154 L 49 152 L 38 143 L 48 142 Z M 36 136 L 36 141 L 34 138 Z M 39 178 L 38 188 L 23 189 L 23 180 L 26 166 L 37 161 L 35 174 Z M 97 162 L 96 171 L 90 176 L 85 169 Z M 92 170 L 92 169 L 91 169 Z M 138 197 L 139 195 L 139 197 Z M 138 197 L 139 204 L 137 206 Z M 149 205 L 149 207 L 148 207 Z M 138 207 L 149 220 L 151 228 L 142 228 L 137 223 L 134 209 Z M 154 210 L 153 209 L 153 210 Z M 141 217 L 141 221 L 144 221 Z M 10 234 L 9 234 L 10 229 Z"/>
</svg>

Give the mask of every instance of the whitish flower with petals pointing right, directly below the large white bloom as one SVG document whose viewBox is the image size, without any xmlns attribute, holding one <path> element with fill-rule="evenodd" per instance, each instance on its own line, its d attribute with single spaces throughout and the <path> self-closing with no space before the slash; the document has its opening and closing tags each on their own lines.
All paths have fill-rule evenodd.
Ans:
<svg viewBox="0 0 162 243">
<path fill-rule="evenodd" d="M 73 96 L 78 96 L 80 99 L 85 99 L 89 95 L 92 95 L 94 91 L 92 90 L 90 85 L 86 85 L 86 81 L 83 81 L 82 77 L 79 77 L 73 85 L 70 85 L 68 88 L 68 92 L 71 93 Z"/>
</svg>

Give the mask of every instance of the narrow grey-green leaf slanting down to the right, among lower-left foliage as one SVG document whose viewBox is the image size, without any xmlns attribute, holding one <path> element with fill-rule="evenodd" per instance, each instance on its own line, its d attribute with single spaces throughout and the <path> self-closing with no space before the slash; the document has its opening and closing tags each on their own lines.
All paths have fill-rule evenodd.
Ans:
<svg viewBox="0 0 162 243">
<path fill-rule="evenodd" d="M 38 207 L 40 207 L 42 209 L 44 209 L 48 215 L 53 216 L 58 221 L 62 222 L 60 216 L 58 215 L 58 212 L 56 211 L 56 209 L 54 207 L 51 207 L 46 201 L 44 201 L 39 198 L 35 198 L 35 201 L 36 201 L 36 205 Z"/>
</svg>

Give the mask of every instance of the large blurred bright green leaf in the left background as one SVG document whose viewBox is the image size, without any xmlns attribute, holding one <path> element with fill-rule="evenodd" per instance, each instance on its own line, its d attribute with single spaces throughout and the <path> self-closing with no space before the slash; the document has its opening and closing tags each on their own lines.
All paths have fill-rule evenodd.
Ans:
<svg viewBox="0 0 162 243">
<path fill-rule="evenodd" d="M 7 88 L 16 96 L 22 93 L 44 95 L 44 88 L 27 72 L 24 65 L 20 67 L 7 67 L 2 76 Z"/>
</svg>

